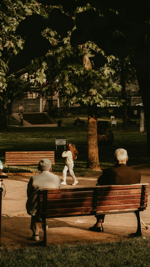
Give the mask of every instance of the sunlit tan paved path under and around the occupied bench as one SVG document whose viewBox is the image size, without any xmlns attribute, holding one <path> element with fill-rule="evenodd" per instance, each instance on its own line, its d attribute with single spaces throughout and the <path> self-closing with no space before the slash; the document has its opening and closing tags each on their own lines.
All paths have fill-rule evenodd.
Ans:
<svg viewBox="0 0 150 267">
<path fill-rule="evenodd" d="M 142 183 L 150 183 L 150 168 L 139 170 L 142 174 Z M 72 187 L 72 178 L 67 177 L 67 187 Z M 60 176 L 62 181 L 62 177 Z M 77 187 L 94 186 L 98 177 L 78 177 Z M 32 245 L 32 231 L 30 230 L 31 217 L 26 213 L 26 190 L 29 177 L 12 177 L 3 180 L 6 185 L 6 195 L 2 199 L 2 244 L 8 247 Z M 66 187 L 66 186 L 63 186 Z M 150 191 L 150 187 L 149 187 Z M 141 212 L 142 220 L 150 227 L 150 192 L 148 207 Z M 90 232 L 88 228 L 96 222 L 94 216 L 79 216 L 68 218 L 47 219 L 48 244 L 65 244 L 84 242 L 100 242 L 128 239 L 128 234 L 136 232 L 137 219 L 133 213 L 110 214 L 103 223 L 104 233 Z M 148 230 L 142 225 L 143 237 L 150 236 Z M 43 231 L 40 229 L 40 240 Z"/>
</svg>

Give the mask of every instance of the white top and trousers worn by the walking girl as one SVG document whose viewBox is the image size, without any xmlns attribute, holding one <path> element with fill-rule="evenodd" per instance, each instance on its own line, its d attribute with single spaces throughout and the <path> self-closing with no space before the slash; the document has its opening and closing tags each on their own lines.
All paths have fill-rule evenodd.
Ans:
<svg viewBox="0 0 150 267">
<path fill-rule="evenodd" d="M 66 165 L 63 169 L 63 181 L 66 182 L 66 176 L 67 176 L 67 171 L 69 170 L 69 173 L 71 175 L 71 177 L 73 178 L 73 180 L 77 180 L 74 172 L 73 172 L 73 155 L 72 152 L 70 150 L 68 151 L 64 151 L 62 154 L 62 157 L 66 157 Z"/>
</svg>

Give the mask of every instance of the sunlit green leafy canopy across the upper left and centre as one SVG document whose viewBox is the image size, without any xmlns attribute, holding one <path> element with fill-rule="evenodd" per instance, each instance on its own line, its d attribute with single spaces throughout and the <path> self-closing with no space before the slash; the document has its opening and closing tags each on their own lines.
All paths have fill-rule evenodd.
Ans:
<svg viewBox="0 0 150 267">
<path fill-rule="evenodd" d="M 65 14 L 60 5 L 56 8 L 36 1 L 6 1 L 1 7 L 2 67 L 5 64 L 7 68 L 8 64 L 8 74 L 13 72 L 17 77 L 28 72 L 37 83 L 42 83 L 47 77 L 46 94 L 51 94 L 55 80 L 66 105 L 97 103 L 104 107 L 115 103 L 115 99 L 108 100 L 101 95 L 106 90 L 120 90 L 120 86 L 112 83 L 110 78 L 114 71 L 109 63 L 114 57 L 106 57 L 94 42 L 76 48 L 70 44 L 76 30 L 75 17 L 88 9 L 95 12 L 86 5 L 72 10 L 72 17 Z M 90 69 L 83 64 L 84 56 L 92 62 Z M 118 99 L 117 104 L 121 103 Z"/>
</svg>

